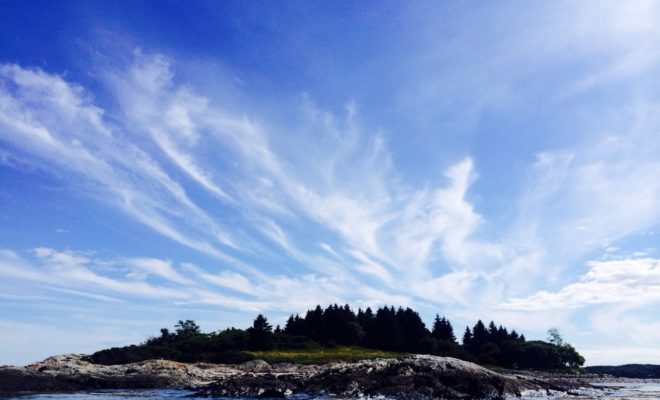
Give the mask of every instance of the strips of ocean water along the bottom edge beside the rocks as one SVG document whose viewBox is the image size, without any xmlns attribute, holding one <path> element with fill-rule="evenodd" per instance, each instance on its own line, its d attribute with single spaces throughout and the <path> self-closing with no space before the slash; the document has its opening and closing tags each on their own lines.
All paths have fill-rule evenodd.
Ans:
<svg viewBox="0 0 660 400">
<path fill-rule="evenodd" d="M 631 399 L 658 399 L 660 400 L 660 382 L 618 382 L 616 384 L 601 384 L 602 393 L 593 391 L 581 392 L 579 396 L 574 394 L 554 393 L 548 396 L 542 393 L 525 393 L 523 397 L 513 397 L 519 400 L 560 400 L 560 399 L 609 399 L 609 400 L 631 400 Z M 207 397 L 195 397 L 187 390 L 99 390 L 94 392 L 62 393 L 62 394 L 35 394 L 23 396 L 1 397 L 0 399 L 15 400 L 195 400 L 208 399 Z M 310 397 L 295 395 L 293 400 L 340 400 L 336 397 Z M 395 400 L 379 397 L 379 400 Z M 248 400 L 247 398 L 234 398 L 233 400 Z"/>
</svg>

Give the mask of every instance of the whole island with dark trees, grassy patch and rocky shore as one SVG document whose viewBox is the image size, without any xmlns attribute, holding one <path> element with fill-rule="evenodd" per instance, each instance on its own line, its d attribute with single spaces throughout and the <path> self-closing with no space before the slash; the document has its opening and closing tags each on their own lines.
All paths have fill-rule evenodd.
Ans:
<svg viewBox="0 0 660 400">
<path fill-rule="evenodd" d="M 410 308 L 354 312 L 317 306 L 273 328 L 202 333 L 191 320 L 139 345 L 0 368 L 0 393 L 188 388 L 199 396 L 282 398 L 297 393 L 363 397 L 488 398 L 596 390 L 576 370 L 584 358 L 558 338 L 527 341 L 482 321 L 461 343 L 436 316 L 426 328 Z"/>
</svg>

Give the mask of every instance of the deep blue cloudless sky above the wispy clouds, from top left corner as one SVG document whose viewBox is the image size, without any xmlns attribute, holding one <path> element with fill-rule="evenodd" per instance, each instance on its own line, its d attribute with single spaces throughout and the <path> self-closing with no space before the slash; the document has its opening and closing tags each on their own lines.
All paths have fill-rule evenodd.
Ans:
<svg viewBox="0 0 660 400">
<path fill-rule="evenodd" d="M 347 99 L 370 105 L 366 117 L 375 125 L 404 132 L 400 140 L 395 136 L 397 151 L 413 150 L 429 162 L 437 156 L 431 152 L 437 146 L 428 144 L 438 140 L 425 126 L 430 122 L 395 117 L 405 91 L 403 77 L 412 68 L 405 61 L 419 56 L 417 45 L 424 41 L 450 46 L 449 28 L 456 19 L 466 18 L 461 12 L 471 13 L 468 4 L 434 11 L 438 29 L 429 37 L 398 29 L 414 15 L 394 3 L 264 2 L 254 7 L 243 2 L 191 1 L 181 7 L 176 1 L 27 1 L 4 8 L 10 12 L 0 17 L 7 32 L 0 44 L 9 61 L 67 73 L 87 83 L 95 52 L 112 46 L 108 42 L 115 39 L 158 49 L 175 59 L 212 58 L 229 65 L 237 78 L 247 82 L 248 92 L 283 91 L 289 102 L 301 93 L 323 93 L 315 101 L 337 111 Z M 473 62 L 478 62 L 474 51 Z M 424 118 L 428 117 L 420 120 Z M 465 146 L 455 137 L 461 132 L 451 131 L 452 115 L 432 118 L 433 123 L 448 120 L 449 129 L 441 135 L 445 146 Z"/>
</svg>

